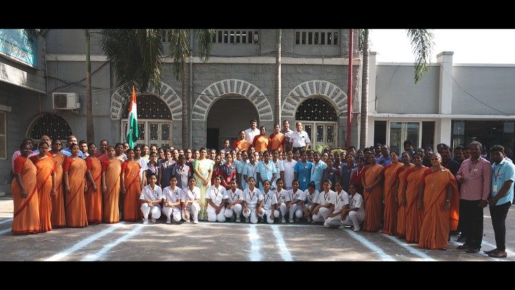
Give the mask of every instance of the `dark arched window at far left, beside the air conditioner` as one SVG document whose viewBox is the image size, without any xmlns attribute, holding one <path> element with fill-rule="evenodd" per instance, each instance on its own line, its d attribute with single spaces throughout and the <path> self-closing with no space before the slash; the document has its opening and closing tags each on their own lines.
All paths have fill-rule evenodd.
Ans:
<svg viewBox="0 0 515 290">
<path fill-rule="evenodd" d="M 72 133 L 68 122 L 61 116 L 55 113 L 45 113 L 34 121 L 29 137 L 34 139 L 34 144 L 37 144 L 41 135 L 48 135 L 52 140 L 64 140 L 64 144 L 66 144 L 68 136 Z"/>
</svg>

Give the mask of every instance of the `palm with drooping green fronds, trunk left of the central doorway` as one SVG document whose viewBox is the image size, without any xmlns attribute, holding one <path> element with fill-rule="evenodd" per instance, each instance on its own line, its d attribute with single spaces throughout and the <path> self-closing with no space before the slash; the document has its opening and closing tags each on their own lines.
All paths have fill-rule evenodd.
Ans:
<svg viewBox="0 0 515 290">
<path fill-rule="evenodd" d="M 139 91 L 147 91 L 149 83 L 158 89 L 161 87 L 163 64 L 163 30 L 102 30 L 102 50 L 112 63 L 117 76 L 117 86 L 124 100 L 128 100 L 129 88 L 135 86 Z M 165 30 L 168 35 L 170 56 L 173 58 L 172 73 L 176 80 L 183 82 L 182 139 L 183 148 L 188 147 L 188 114 L 190 111 L 187 98 L 186 58 L 191 56 L 190 36 L 198 39 L 198 55 L 201 60 L 209 59 L 213 45 L 214 30 Z M 191 81 L 191 80 L 189 80 Z"/>
</svg>

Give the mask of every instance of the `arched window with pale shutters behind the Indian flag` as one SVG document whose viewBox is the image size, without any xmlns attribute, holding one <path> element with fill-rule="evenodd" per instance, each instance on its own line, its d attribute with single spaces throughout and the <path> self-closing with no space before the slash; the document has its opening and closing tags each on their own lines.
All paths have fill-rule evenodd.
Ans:
<svg viewBox="0 0 515 290">
<path fill-rule="evenodd" d="M 158 148 L 170 148 L 172 136 L 172 113 L 168 105 L 161 98 L 153 94 L 137 96 L 138 131 L 139 140 L 136 144 L 155 145 Z M 127 136 L 128 106 L 122 115 L 122 135 L 120 140 Z"/>
</svg>

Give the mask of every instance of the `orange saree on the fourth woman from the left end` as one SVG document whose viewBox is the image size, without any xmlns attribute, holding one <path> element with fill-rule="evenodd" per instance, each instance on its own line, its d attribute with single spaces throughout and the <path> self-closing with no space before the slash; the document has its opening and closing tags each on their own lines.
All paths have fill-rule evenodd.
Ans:
<svg viewBox="0 0 515 290">
<path fill-rule="evenodd" d="M 86 161 L 80 157 L 75 160 L 65 160 L 65 172 L 68 172 L 68 185 L 70 193 L 66 196 L 66 224 L 68 227 L 86 227 L 86 202 L 84 201 L 84 176 L 86 175 Z"/>
</svg>

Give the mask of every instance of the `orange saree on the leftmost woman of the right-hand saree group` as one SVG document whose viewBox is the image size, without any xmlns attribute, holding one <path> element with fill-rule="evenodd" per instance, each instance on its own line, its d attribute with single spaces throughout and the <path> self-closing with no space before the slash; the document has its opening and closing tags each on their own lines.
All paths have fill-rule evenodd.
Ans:
<svg viewBox="0 0 515 290">
<path fill-rule="evenodd" d="M 381 175 L 384 168 L 379 164 L 365 168 L 365 184 L 374 183 Z M 367 232 L 377 232 L 381 219 L 382 185 L 378 184 L 372 188 L 371 192 L 363 190 L 365 197 L 365 221 L 363 230 Z"/>
</svg>

